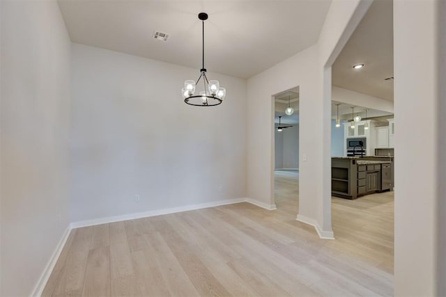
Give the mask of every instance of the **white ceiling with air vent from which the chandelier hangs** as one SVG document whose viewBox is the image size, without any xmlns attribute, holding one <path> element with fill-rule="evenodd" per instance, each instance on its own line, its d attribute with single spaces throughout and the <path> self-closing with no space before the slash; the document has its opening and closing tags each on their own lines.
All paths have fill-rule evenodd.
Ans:
<svg viewBox="0 0 446 297">
<path fill-rule="evenodd" d="M 72 42 L 249 78 L 314 45 L 331 0 L 59 0 Z M 152 38 L 169 33 L 167 42 Z"/>
</svg>

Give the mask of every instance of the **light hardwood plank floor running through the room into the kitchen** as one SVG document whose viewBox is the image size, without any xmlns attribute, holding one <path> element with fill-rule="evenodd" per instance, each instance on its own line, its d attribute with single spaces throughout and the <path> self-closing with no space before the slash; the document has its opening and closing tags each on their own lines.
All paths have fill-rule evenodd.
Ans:
<svg viewBox="0 0 446 297">
<path fill-rule="evenodd" d="M 333 198 L 334 241 L 295 220 L 298 173 L 277 211 L 252 204 L 72 230 L 43 296 L 390 296 L 393 195 Z"/>
</svg>

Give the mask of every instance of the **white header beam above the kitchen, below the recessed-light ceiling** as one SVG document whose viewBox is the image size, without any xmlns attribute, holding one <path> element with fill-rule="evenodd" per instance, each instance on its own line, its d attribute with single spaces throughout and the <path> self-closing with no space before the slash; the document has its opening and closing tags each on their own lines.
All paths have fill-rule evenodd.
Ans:
<svg viewBox="0 0 446 297">
<path fill-rule="evenodd" d="M 377 111 L 387 111 L 388 113 L 393 113 L 392 101 L 365 95 L 353 90 L 339 88 L 337 86 L 332 86 L 332 100 L 356 106 L 363 106 L 369 109 L 376 109 Z"/>
</svg>

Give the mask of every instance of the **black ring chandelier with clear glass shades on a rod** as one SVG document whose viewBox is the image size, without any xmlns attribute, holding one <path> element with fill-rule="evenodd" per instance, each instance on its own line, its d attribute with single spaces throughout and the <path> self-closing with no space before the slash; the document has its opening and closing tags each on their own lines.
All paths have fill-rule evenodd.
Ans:
<svg viewBox="0 0 446 297">
<path fill-rule="evenodd" d="M 226 96 L 226 89 L 220 88 L 218 81 L 208 81 L 206 77 L 206 68 L 204 67 L 204 21 L 208 19 L 207 13 L 199 13 L 198 18 L 201 19 L 203 24 L 203 67 L 200 70 L 200 76 L 197 79 L 197 83 L 192 80 L 184 82 L 184 88 L 181 90 L 183 94 L 184 102 L 194 106 L 214 106 L 221 104 Z M 200 95 L 194 95 L 195 87 L 203 77 L 204 90 L 200 92 Z"/>
</svg>

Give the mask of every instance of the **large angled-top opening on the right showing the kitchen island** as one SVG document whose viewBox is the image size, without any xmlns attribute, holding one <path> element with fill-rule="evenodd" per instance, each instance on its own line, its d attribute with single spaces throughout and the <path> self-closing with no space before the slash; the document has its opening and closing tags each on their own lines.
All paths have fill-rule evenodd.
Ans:
<svg viewBox="0 0 446 297">
<path fill-rule="evenodd" d="M 393 75 L 393 1 L 374 1 L 332 65 L 332 229 L 390 274 Z"/>
</svg>

